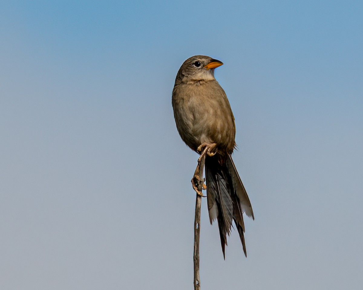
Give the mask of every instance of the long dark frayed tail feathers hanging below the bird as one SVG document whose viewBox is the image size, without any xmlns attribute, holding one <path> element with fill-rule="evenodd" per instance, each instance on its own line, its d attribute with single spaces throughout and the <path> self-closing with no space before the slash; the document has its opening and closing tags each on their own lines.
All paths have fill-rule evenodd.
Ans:
<svg viewBox="0 0 363 290">
<path fill-rule="evenodd" d="M 217 156 L 207 156 L 205 158 L 205 177 L 209 219 L 211 223 L 217 219 L 223 257 L 225 258 L 227 235 L 229 236 L 231 233 L 232 220 L 236 224 L 244 253 L 247 256 L 242 214 L 245 212 L 247 216 L 253 219 L 254 217 L 247 192 L 231 156 L 228 156 L 223 164 L 219 162 Z"/>
</svg>

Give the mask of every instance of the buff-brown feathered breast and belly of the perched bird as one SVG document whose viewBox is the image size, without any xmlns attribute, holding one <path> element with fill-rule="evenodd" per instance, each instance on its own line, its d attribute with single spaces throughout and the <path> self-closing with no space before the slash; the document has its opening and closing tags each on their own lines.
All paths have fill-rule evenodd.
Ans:
<svg viewBox="0 0 363 290">
<path fill-rule="evenodd" d="M 235 146 L 234 118 L 224 90 L 217 81 L 181 84 L 174 88 L 174 116 L 181 138 L 193 150 L 217 143 L 232 153 Z"/>
</svg>

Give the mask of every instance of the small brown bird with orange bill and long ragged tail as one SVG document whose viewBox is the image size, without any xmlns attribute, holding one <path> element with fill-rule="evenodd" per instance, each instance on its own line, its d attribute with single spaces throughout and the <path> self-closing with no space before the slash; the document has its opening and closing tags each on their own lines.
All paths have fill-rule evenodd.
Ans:
<svg viewBox="0 0 363 290">
<path fill-rule="evenodd" d="M 221 61 L 205 55 L 188 58 L 176 75 L 172 105 L 181 139 L 195 152 L 205 154 L 209 219 L 211 224 L 217 219 L 223 257 L 232 220 L 247 257 L 242 214 L 245 212 L 252 219 L 254 216 L 231 157 L 236 147 L 234 117 L 227 96 L 214 77 L 214 69 L 221 65 Z"/>
</svg>

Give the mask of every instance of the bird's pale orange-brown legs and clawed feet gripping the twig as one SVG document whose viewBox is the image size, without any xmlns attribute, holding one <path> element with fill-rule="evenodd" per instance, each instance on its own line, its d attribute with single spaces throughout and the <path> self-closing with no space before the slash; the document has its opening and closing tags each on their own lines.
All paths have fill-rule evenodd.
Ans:
<svg viewBox="0 0 363 290">
<path fill-rule="evenodd" d="M 198 158 L 198 165 L 197 168 L 195 169 L 191 181 L 194 190 L 200 196 L 204 196 L 203 193 L 201 192 L 202 189 L 204 190 L 207 189 L 207 186 L 204 184 L 204 178 L 203 178 L 205 154 L 207 154 L 208 156 L 213 156 L 215 153 L 211 152 L 211 150 L 215 148 L 216 145 L 217 145 L 216 143 L 208 144 L 204 142 L 197 148 L 197 151 L 200 152 L 200 157 Z M 202 151 L 203 147 L 204 149 Z"/>
</svg>

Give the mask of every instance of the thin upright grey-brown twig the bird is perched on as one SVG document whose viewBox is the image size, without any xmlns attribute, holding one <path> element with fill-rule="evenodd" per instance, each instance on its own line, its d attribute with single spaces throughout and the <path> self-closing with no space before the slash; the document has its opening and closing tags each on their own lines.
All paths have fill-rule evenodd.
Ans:
<svg viewBox="0 0 363 290">
<path fill-rule="evenodd" d="M 198 176 L 200 177 L 199 181 L 197 182 L 197 189 L 199 192 L 202 191 L 203 187 L 203 170 L 204 170 L 204 162 L 205 162 L 205 155 L 198 160 Z M 196 201 L 195 201 L 195 220 L 194 220 L 194 254 L 193 254 L 193 261 L 194 261 L 194 290 L 200 290 L 200 277 L 199 277 L 199 233 L 200 233 L 200 205 L 201 205 L 201 195 L 196 194 Z"/>
</svg>

